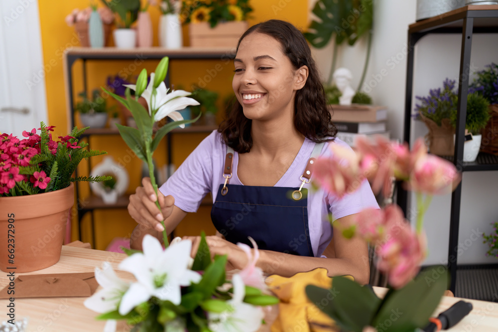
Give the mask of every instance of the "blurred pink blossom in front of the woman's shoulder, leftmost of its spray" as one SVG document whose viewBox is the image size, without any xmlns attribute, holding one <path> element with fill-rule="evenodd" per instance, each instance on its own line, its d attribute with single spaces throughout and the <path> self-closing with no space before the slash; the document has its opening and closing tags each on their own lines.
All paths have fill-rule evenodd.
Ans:
<svg viewBox="0 0 498 332">
<path fill-rule="evenodd" d="M 349 148 L 331 143 L 331 157 L 317 158 L 313 166 L 313 180 L 325 191 L 342 198 L 357 190 L 364 177 L 360 174 L 359 159 Z"/>
</svg>

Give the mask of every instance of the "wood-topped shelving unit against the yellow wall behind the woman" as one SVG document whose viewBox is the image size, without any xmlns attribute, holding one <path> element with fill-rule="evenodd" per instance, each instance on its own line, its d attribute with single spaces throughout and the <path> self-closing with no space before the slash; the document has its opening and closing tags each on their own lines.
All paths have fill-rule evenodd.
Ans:
<svg viewBox="0 0 498 332">
<path fill-rule="evenodd" d="M 134 48 L 134 49 L 118 49 L 116 47 L 90 48 L 90 47 L 74 47 L 67 49 L 64 52 L 64 80 L 66 84 L 66 109 L 67 116 L 70 119 L 68 123 L 68 132 L 71 132 L 74 127 L 74 93 L 73 93 L 73 73 L 72 68 L 77 60 L 82 60 L 83 69 L 83 89 L 88 91 L 87 84 L 87 61 L 91 60 L 159 60 L 168 56 L 170 60 L 219 60 L 227 63 L 228 60 L 235 58 L 235 48 L 194 48 L 183 47 L 180 49 L 164 49 L 160 47 L 150 48 Z M 170 86 L 170 74 L 174 65 L 170 62 L 168 74 L 165 79 L 166 86 Z M 216 129 L 216 126 L 191 126 L 184 129 L 173 129 L 166 135 L 167 144 L 167 164 L 172 161 L 172 137 L 177 133 L 194 133 L 202 132 L 209 133 Z M 85 131 L 83 137 L 90 138 L 95 135 L 118 135 L 119 131 L 111 128 L 90 128 Z M 88 140 L 90 143 L 90 139 Z M 89 169 L 90 160 L 88 161 Z M 169 174 L 168 174 L 169 176 Z M 78 188 L 76 188 L 76 201 L 78 202 L 78 225 L 81 240 L 81 221 L 87 212 L 93 212 L 97 209 L 125 209 L 128 206 L 129 197 L 124 196 L 118 199 L 116 204 L 104 204 L 103 201 L 96 196 L 90 196 L 85 200 L 81 200 Z M 201 205 L 210 205 L 211 199 L 205 197 Z M 95 223 L 92 216 L 92 239 L 93 247 L 95 248 Z"/>
</svg>

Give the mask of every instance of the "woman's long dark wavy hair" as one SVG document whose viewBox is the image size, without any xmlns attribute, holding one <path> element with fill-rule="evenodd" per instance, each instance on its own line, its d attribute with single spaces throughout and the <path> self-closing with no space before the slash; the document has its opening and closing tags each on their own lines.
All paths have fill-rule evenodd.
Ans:
<svg viewBox="0 0 498 332">
<path fill-rule="evenodd" d="M 289 22 L 270 19 L 253 25 L 244 32 L 237 44 L 237 50 L 241 41 L 253 32 L 263 33 L 278 40 L 294 69 L 308 67 L 308 79 L 304 87 L 296 91 L 294 125 L 306 138 L 316 143 L 333 140 L 337 129 L 331 122 L 320 75 L 302 32 Z M 252 120 L 244 115 L 242 105 L 236 99 L 233 107 L 227 111 L 227 119 L 218 128 L 223 141 L 239 153 L 249 152 L 252 147 Z"/>
</svg>

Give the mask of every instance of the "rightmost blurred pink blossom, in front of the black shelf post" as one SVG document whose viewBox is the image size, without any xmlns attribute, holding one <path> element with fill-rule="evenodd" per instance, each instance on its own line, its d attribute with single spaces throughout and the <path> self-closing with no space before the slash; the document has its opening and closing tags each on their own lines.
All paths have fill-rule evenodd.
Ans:
<svg viewBox="0 0 498 332">
<path fill-rule="evenodd" d="M 455 165 L 427 154 L 416 161 L 409 185 L 416 192 L 444 195 L 451 193 L 460 180 Z"/>
</svg>

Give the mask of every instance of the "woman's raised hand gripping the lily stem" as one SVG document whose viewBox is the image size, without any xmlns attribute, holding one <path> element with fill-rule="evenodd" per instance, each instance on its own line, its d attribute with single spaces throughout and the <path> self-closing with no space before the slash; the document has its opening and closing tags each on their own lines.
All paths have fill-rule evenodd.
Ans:
<svg viewBox="0 0 498 332">
<path fill-rule="evenodd" d="M 142 186 L 137 187 L 135 193 L 129 197 L 128 213 L 137 223 L 159 232 L 164 230 L 161 221 L 168 218 L 173 212 L 175 199 L 173 196 L 164 196 L 157 191 L 159 206 L 155 204 L 156 194 L 150 178 L 142 179 Z"/>
</svg>

